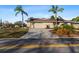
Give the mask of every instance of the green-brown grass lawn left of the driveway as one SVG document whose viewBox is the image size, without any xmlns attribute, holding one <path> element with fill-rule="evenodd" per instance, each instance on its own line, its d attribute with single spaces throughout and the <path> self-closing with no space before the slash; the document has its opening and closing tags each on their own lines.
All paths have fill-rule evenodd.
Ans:
<svg viewBox="0 0 79 59">
<path fill-rule="evenodd" d="M 0 38 L 20 38 L 27 32 L 27 28 L 4 28 L 0 29 Z"/>
</svg>

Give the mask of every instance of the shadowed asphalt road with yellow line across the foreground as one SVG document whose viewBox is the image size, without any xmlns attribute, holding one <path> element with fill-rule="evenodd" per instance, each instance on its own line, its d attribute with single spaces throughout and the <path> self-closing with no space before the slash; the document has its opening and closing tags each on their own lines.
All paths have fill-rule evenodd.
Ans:
<svg viewBox="0 0 79 59">
<path fill-rule="evenodd" d="M 0 39 L 0 53 L 78 53 L 79 38 Z"/>
</svg>

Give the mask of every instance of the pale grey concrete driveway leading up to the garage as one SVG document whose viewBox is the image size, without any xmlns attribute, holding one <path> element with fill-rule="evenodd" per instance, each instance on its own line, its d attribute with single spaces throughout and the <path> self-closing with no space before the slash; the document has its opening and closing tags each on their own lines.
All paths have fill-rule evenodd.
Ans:
<svg viewBox="0 0 79 59">
<path fill-rule="evenodd" d="M 21 38 L 58 38 L 57 35 L 52 35 L 49 30 L 50 29 L 30 29 L 29 32 Z"/>
</svg>

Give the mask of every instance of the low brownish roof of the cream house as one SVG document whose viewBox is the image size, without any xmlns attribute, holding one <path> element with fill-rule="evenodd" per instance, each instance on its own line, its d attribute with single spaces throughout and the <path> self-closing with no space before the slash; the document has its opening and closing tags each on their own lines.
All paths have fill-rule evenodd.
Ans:
<svg viewBox="0 0 79 59">
<path fill-rule="evenodd" d="M 32 18 L 31 19 L 32 22 L 37 22 L 37 23 L 53 23 L 53 22 L 56 22 L 56 20 L 50 20 L 50 19 L 47 19 L 47 18 Z M 28 22 L 31 22 L 31 21 L 28 21 Z M 75 23 L 75 24 L 79 24 L 79 22 L 74 22 L 74 21 L 70 21 L 70 20 L 58 20 L 57 22 L 60 22 L 60 23 Z"/>
</svg>

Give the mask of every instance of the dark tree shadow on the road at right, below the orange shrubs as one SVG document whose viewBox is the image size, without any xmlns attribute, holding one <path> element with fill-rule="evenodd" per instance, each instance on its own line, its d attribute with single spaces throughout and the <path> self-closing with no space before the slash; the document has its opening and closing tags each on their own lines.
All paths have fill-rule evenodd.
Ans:
<svg viewBox="0 0 79 59">
<path fill-rule="evenodd" d="M 71 53 L 76 53 L 75 48 L 70 46 L 70 44 L 79 44 L 78 38 L 60 38 L 58 41 L 67 44 Z"/>
</svg>

